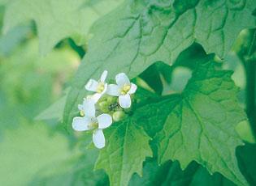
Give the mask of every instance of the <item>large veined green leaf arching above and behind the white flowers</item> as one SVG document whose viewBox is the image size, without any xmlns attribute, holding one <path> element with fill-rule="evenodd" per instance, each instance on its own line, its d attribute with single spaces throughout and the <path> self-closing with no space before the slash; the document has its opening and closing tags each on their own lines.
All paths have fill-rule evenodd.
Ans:
<svg viewBox="0 0 256 186">
<path fill-rule="evenodd" d="M 124 2 L 93 25 L 88 53 L 67 97 L 67 129 L 89 78 L 103 70 L 110 78 L 119 72 L 134 78 L 156 61 L 171 65 L 194 42 L 223 57 L 243 28 L 255 26 L 255 6 L 254 0 Z"/>
</svg>

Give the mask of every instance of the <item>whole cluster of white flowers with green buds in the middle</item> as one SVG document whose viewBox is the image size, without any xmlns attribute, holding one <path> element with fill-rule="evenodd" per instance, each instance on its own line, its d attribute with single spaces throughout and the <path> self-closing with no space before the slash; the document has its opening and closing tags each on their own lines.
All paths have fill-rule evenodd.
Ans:
<svg viewBox="0 0 256 186">
<path fill-rule="evenodd" d="M 137 90 L 137 86 L 124 73 L 115 76 L 116 84 L 108 84 L 106 76 L 105 70 L 98 81 L 89 79 L 85 89 L 94 94 L 87 96 L 83 104 L 78 105 L 80 116 L 74 117 L 72 122 L 76 131 L 93 130 L 93 143 L 99 149 L 105 146 L 102 129 L 124 116 L 123 110 L 131 107 L 131 95 Z"/>
</svg>

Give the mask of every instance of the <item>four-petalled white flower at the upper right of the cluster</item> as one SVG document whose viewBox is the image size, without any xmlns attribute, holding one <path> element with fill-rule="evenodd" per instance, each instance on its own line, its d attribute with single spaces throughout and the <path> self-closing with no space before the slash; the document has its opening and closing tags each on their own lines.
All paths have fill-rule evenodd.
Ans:
<svg viewBox="0 0 256 186">
<path fill-rule="evenodd" d="M 119 105 L 122 108 L 131 107 L 131 94 L 137 90 L 137 86 L 130 82 L 126 74 L 120 73 L 115 76 L 115 84 L 108 85 L 106 93 L 108 95 L 119 96 Z"/>
</svg>

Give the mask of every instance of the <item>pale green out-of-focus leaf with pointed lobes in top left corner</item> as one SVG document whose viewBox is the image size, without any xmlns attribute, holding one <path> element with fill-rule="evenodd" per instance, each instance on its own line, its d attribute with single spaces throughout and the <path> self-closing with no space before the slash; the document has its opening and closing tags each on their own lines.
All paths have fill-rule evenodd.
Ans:
<svg viewBox="0 0 256 186">
<path fill-rule="evenodd" d="M 121 0 L 10 0 L 7 2 L 3 31 L 34 20 L 37 24 L 40 52 L 49 53 L 60 40 L 72 37 L 85 44 L 89 28 L 102 15 L 119 5 Z M 49 32 L 50 31 L 50 32 Z"/>
</svg>

